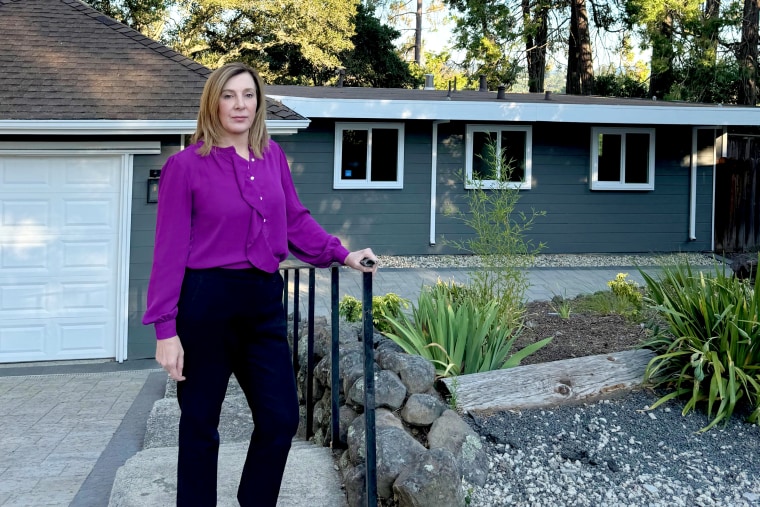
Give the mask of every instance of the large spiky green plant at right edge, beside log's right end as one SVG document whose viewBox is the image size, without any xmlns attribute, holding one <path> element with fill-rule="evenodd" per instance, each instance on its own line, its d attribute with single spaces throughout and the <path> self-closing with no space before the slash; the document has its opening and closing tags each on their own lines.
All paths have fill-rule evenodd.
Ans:
<svg viewBox="0 0 760 507">
<path fill-rule="evenodd" d="M 645 377 L 673 391 L 652 408 L 687 396 L 683 413 L 707 403 L 712 421 L 706 431 L 727 421 L 743 401 L 749 421 L 760 421 L 760 283 L 715 267 L 710 276 L 688 263 L 668 267 L 658 279 L 642 272 L 648 302 L 667 322 L 667 332 L 648 344 L 658 352 Z"/>
</svg>

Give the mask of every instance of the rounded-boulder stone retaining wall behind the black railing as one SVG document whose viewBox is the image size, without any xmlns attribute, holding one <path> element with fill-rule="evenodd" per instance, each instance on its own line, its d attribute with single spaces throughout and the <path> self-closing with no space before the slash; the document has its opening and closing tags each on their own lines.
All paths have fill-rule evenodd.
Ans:
<svg viewBox="0 0 760 507">
<path fill-rule="evenodd" d="M 298 372 L 302 423 L 306 407 L 306 323 L 301 323 Z M 331 434 L 331 330 L 314 322 L 314 437 Z M 348 444 L 339 458 L 350 507 L 365 505 L 364 350 L 362 327 L 341 321 L 340 434 Z M 291 334 L 292 340 L 292 334 Z M 375 421 L 378 496 L 399 507 L 460 507 L 467 484 L 485 484 L 488 458 L 480 438 L 434 389 L 435 368 L 375 333 Z M 300 430 L 303 436 L 305 425 Z"/>
</svg>

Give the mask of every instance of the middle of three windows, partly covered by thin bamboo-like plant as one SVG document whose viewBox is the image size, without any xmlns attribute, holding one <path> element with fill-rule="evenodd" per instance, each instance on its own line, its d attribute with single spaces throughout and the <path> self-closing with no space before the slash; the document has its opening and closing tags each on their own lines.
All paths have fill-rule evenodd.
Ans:
<svg viewBox="0 0 760 507">
<path fill-rule="evenodd" d="M 465 188 L 473 188 L 473 180 L 481 180 L 483 188 L 494 188 L 501 178 L 508 178 L 511 188 L 530 188 L 532 144 L 530 127 L 468 125 Z M 507 165 L 502 167 L 502 161 Z"/>
</svg>

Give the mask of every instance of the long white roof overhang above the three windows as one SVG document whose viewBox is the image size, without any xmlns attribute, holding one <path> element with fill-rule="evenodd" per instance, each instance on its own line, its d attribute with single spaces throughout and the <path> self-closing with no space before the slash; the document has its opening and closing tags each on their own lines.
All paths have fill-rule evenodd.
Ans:
<svg viewBox="0 0 760 507">
<path fill-rule="evenodd" d="M 269 95 L 307 118 L 560 122 L 633 125 L 760 125 L 760 108 L 685 104 L 620 105 L 325 99 Z"/>
</svg>

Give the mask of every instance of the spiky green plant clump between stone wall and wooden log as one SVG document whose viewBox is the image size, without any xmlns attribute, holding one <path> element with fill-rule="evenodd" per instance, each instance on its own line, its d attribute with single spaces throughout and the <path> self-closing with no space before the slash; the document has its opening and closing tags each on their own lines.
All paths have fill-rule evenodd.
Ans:
<svg viewBox="0 0 760 507">
<path fill-rule="evenodd" d="M 511 354 L 521 326 L 500 321 L 496 301 L 481 305 L 453 283 L 423 287 L 411 318 L 402 314 L 388 321 L 392 331 L 387 336 L 407 353 L 431 361 L 442 377 L 511 368 L 551 341 Z"/>
</svg>

